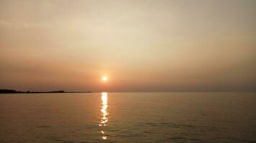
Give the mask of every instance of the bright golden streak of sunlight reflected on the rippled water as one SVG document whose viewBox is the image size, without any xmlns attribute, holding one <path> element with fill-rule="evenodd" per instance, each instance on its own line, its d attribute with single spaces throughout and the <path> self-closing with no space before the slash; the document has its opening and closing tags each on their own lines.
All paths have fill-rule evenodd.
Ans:
<svg viewBox="0 0 256 143">
<path fill-rule="evenodd" d="M 101 93 L 101 122 L 99 126 L 106 126 L 106 123 L 108 122 L 108 93 L 102 92 Z M 104 130 L 101 130 L 102 139 L 107 139 L 106 132 Z"/>
</svg>

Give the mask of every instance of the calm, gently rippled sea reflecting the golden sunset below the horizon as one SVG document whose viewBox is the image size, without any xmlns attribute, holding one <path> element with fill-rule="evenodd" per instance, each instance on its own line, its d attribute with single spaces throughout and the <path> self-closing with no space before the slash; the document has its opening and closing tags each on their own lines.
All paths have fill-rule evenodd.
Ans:
<svg viewBox="0 0 256 143">
<path fill-rule="evenodd" d="M 0 142 L 256 142 L 256 93 L 0 94 Z"/>
</svg>

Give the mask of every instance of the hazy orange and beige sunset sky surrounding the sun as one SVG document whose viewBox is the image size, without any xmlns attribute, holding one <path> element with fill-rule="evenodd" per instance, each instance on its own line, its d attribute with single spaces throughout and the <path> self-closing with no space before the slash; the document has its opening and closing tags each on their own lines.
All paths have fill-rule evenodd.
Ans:
<svg viewBox="0 0 256 143">
<path fill-rule="evenodd" d="M 0 89 L 256 91 L 255 17 L 255 0 L 0 0 Z"/>
</svg>

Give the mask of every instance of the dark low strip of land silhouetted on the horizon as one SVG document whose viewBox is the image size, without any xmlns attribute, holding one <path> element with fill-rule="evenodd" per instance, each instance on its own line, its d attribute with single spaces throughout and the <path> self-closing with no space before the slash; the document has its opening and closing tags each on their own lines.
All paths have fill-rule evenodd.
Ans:
<svg viewBox="0 0 256 143">
<path fill-rule="evenodd" d="M 57 91 L 51 91 L 51 92 L 23 92 L 23 91 L 17 91 L 14 89 L 0 89 L 0 94 L 47 94 L 47 93 L 92 93 L 92 92 L 65 92 L 64 90 L 57 90 Z"/>
</svg>

